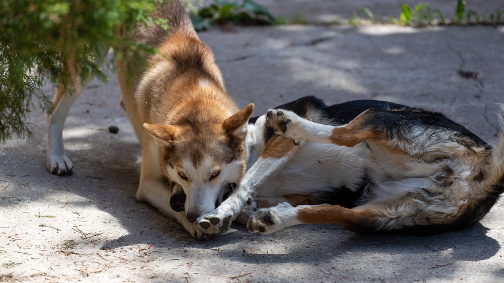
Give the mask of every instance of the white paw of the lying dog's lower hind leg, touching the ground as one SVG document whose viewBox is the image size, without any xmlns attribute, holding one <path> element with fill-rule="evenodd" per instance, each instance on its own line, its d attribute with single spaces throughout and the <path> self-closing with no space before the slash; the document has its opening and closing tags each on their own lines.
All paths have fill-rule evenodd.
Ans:
<svg viewBox="0 0 504 283">
<path fill-rule="evenodd" d="M 263 208 L 255 216 L 251 216 L 247 222 L 248 232 L 269 234 L 285 227 L 295 225 L 295 207 L 287 202 L 277 206 Z"/>
</svg>

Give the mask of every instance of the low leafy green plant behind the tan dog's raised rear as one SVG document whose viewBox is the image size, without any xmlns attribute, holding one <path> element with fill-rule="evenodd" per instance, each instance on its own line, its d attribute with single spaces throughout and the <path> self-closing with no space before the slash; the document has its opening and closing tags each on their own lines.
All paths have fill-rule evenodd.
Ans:
<svg viewBox="0 0 504 283">
<path fill-rule="evenodd" d="M 196 30 L 206 30 L 212 24 L 234 23 L 237 25 L 261 25 L 274 24 L 276 18 L 268 9 L 252 0 L 227 2 L 214 0 L 214 2 L 200 9 L 191 16 Z"/>
</svg>

